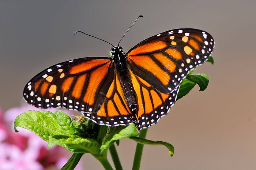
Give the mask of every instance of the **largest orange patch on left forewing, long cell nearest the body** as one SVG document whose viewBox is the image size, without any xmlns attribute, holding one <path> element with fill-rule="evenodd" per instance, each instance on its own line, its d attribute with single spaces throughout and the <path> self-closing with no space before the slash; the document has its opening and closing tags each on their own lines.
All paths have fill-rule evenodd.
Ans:
<svg viewBox="0 0 256 170">
<path fill-rule="evenodd" d="M 89 105 L 93 105 L 95 101 L 95 93 L 97 87 L 102 82 L 103 78 L 108 72 L 109 64 L 105 64 L 94 71 L 91 72 L 86 93 L 84 95 L 83 101 Z"/>
</svg>

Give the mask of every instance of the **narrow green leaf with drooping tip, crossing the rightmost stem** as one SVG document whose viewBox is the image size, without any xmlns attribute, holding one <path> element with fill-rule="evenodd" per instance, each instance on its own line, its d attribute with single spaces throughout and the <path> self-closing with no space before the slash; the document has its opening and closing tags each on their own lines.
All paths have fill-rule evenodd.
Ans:
<svg viewBox="0 0 256 170">
<path fill-rule="evenodd" d="M 142 144 L 147 144 L 147 145 L 164 145 L 169 149 L 170 156 L 172 157 L 174 154 L 174 147 L 167 142 L 162 142 L 162 141 L 150 141 L 148 139 L 140 138 L 140 137 L 129 137 L 130 139 L 142 143 Z"/>
</svg>

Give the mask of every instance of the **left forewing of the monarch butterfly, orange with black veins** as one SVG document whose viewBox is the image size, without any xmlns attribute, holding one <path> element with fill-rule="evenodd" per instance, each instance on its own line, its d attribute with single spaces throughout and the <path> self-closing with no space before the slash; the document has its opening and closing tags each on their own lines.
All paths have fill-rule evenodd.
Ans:
<svg viewBox="0 0 256 170">
<path fill-rule="evenodd" d="M 23 97 L 38 108 L 64 107 L 83 113 L 97 112 L 114 80 L 112 61 L 90 57 L 59 63 L 36 75 Z"/>
</svg>

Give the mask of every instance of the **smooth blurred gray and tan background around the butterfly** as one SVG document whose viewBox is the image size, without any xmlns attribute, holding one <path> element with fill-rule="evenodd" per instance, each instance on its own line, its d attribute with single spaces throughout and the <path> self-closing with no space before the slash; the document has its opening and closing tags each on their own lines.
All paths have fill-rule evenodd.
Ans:
<svg viewBox="0 0 256 170">
<path fill-rule="evenodd" d="M 215 64 L 196 73 L 210 76 L 206 91 L 196 87 L 170 113 L 150 127 L 147 138 L 174 145 L 145 146 L 141 169 L 254 170 L 256 168 L 256 1 L 33 1 L 0 0 L 0 107 L 24 104 L 22 91 L 37 73 L 84 56 L 109 56 L 110 46 L 128 51 L 140 41 L 174 28 L 197 28 L 216 41 Z M 136 143 L 117 147 L 124 169 L 131 169 Z M 111 159 L 109 157 L 109 159 Z M 102 169 L 91 155 L 85 169 Z"/>
</svg>

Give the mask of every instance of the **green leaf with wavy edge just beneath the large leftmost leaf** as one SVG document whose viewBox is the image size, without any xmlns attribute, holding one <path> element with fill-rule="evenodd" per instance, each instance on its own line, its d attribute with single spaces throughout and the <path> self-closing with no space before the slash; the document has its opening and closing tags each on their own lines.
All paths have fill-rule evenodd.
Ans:
<svg viewBox="0 0 256 170">
<path fill-rule="evenodd" d="M 54 135 L 49 138 L 48 148 L 60 145 L 76 153 L 91 153 L 99 155 L 99 143 L 94 139 L 71 138 L 63 135 Z"/>
</svg>

